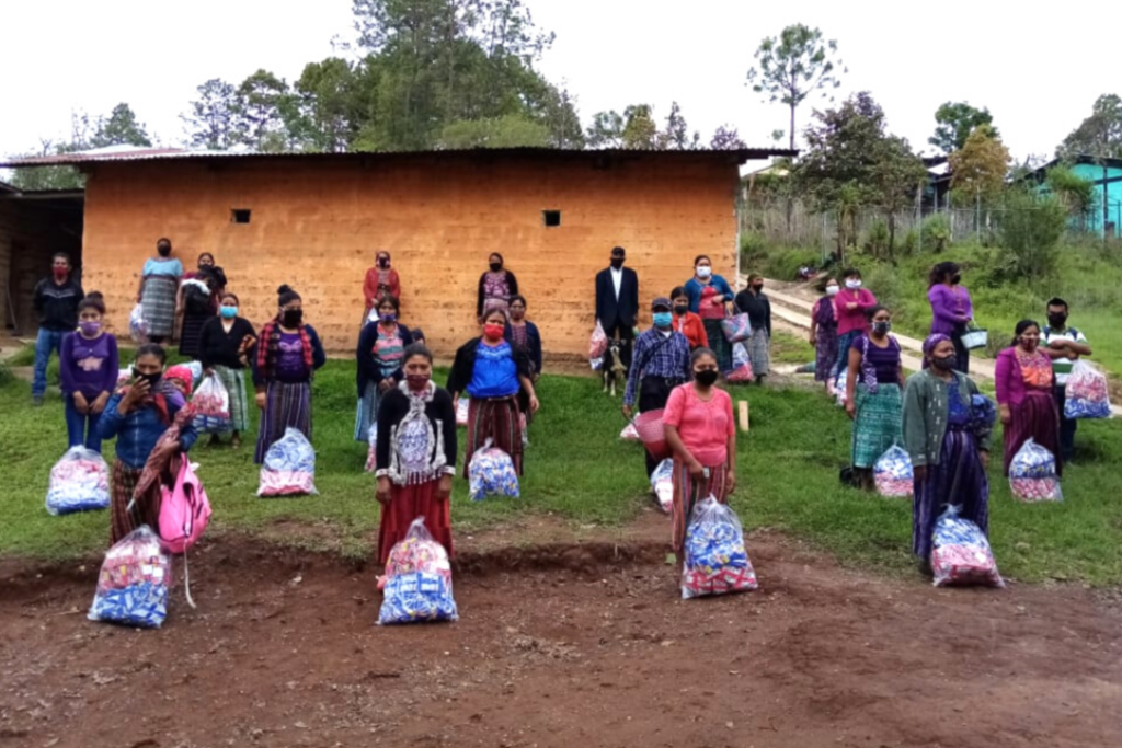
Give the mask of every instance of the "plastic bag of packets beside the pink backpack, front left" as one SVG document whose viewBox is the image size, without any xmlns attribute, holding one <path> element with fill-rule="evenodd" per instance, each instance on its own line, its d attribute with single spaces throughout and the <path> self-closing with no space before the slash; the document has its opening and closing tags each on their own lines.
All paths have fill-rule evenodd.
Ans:
<svg viewBox="0 0 1122 748">
<path fill-rule="evenodd" d="M 172 556 L 141 525 L 105 553 L 88 618 L 139 628 L 159 628 L 167 618 Z"/>
</svg>

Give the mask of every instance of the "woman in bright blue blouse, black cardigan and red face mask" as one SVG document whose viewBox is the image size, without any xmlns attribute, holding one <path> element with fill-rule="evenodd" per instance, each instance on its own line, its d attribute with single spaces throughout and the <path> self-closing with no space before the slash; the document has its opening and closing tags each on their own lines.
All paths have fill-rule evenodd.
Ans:
<svg viewBox="0 0 1122 748">
<path fill-rule="evenodd" d="M 456 362 L 448 377 L 448 391 L 456 405 L 463 393 L 471 396 L 465 478 L 471 455 L 482 449 L 487 440 L 491 441 L 491 446 L 511 455 L 515 471 L 522 475 L 518 394 L 525 393 L 528 398 L 530 413 L 537 412 L 537 395 L 530 378 L 528 354 L 521 345 L 512 347 L 503 336 L 505 331 L 506 312 L 487 312 L 482 336 L 469 340 L 456 352 Z"/>
</svg>

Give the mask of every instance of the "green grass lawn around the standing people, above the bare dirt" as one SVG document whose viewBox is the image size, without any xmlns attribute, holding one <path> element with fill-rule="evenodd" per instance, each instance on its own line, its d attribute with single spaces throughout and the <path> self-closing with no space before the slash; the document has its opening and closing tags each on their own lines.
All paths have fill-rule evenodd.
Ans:
<svg viewBox="0 0 1122 748">
<path fill-rule="evenodd" d="M 614 526 L 650 501 L 642 447 L 618 440 L 624 425 L 618 399 L 601 395 L 591 378 L 544 377 L 540 393 L 543 410 L 531 430 L 523 499 L 473 504 L 458 480 L 452 499 L 458 533 L 519 512 Z M 911 567 L 910 504 L 838 483 L 849 450 L 849 422 L 842 410 L 817 389 L 802 387 L 749 387 L 734 397 L 747 397 L 752 405 L 752 431 L 739 440 L 741 488 L 733 500 L 747 528 L 766 526 L 808 538 L 845 563 Z M 96 553 L 108 538 L 107 512 L 50 517 L 44 509 L 50 465 L 65 451 L 63 408 L 54 398 L 39 409 L 29 401 L 27 382 L 0 387 L 6 416 L 0 419 L 6 509 L 0 554 L 68 558 Z M 320 496 L 258 499 L 249 443 L 239 452 L 200 445 L 192 454 L 202 463 L 200 477 L 214 505 L 212 527 L 273 535 L 279 527 L 294 544 L 367 555 L 378 509 L 373 478 L 362 472 L 366 445 L 351 438 L 353 363 L 329 362 L 315 380 L 313 401 Z M 1113 467 L 1122 454 L 1122 428 L 1118 422 L 1082 424 L 1078 445 L 1063 504 L 1014 502 L 995 460 L 991 529 L 1006 575 L 1122 583 L 1122 475 Z M 112 445 L 105 451 L 111 454 Z"/>
</svg>

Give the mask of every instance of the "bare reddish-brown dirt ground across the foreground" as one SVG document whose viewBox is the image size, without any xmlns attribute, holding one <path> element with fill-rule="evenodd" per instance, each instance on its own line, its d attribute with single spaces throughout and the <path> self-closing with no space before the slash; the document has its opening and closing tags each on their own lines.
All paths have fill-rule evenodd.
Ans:
<svg viewBox="0 0 1122 748">
<path fill-rule="evenodd" d="M 374 626 L 373 567 L 232 536 L 158 631 L 85 620 L 95 563 L 0 562 L 0 746 L 1122 745 L 1116 598 L 935 590 L 761 533 L 757 592 L 682 601 L 655 512 L 531 521 L 461 538 L 434 626 Z"/>
</svg>

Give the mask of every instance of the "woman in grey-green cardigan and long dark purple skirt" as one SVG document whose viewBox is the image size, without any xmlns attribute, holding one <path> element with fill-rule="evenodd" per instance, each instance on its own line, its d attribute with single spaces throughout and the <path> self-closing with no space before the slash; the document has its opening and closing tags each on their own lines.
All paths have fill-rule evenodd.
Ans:
<svg viewBox="0 0 1122 748">
<path fill-rule="evenodd" d="M 908 378 L 903 397 L 904 449 L 914 473 L 912 553 L 930 574 L 931 534 L 949 505 L 988 535 L 990 432 L 996 409 L 964 373 L 955 371 L 955 344 L 936 333 L 923 341 L 930 364 Z"/>
</svg>

